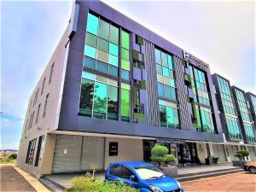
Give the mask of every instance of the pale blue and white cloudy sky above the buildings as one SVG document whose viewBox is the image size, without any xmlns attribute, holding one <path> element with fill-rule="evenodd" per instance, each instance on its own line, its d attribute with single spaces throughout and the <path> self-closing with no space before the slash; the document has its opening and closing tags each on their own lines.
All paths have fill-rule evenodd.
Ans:
<svg viewBox="0 0 256 192">
<path fill-rule="evenodd" d="M 255 2 L 104 2 L 256 94 Z M 0 148 L 19 148 L 29 96 L 71 8 L 71 1 L 1 2 Z"/>
</svg>

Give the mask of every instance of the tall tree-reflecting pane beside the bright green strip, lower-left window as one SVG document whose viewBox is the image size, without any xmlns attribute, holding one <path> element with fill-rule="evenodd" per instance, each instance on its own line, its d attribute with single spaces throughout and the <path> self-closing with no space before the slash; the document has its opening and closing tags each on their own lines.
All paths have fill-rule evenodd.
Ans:
<svg viewBox="0 0 256 192">
<path fill-rule="evenodd" d="M 118 88 L 108 85 L 108 119 L 118 119 Z"/>
</svg>

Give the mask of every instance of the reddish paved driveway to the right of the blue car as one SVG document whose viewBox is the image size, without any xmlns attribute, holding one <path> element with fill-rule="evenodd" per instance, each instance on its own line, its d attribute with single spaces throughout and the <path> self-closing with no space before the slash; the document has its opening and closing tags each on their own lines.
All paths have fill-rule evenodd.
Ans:
<svg viewBox="0 0 256 192">
<path fill-rule="evenodd" d="M 185 192 L 256 192 L 256 174 L 238 172 L 181 183 Z"/>
</svg>

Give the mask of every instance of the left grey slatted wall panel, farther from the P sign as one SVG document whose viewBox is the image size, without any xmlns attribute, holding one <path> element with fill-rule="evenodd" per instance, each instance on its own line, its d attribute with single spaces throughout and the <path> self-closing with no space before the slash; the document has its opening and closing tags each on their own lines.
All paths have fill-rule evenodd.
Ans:
<svg viewBox="0 0 256 192">
<path fill-rule="evenodd" d="M 158 97 L 157 97 L 157 77 L 154 64 L 154 44 L 145 40 L 145 67 L 147 72 L 147 95 L 148 95 L 148 123 L 149 125 L 159 125 Z"/>
</svg>

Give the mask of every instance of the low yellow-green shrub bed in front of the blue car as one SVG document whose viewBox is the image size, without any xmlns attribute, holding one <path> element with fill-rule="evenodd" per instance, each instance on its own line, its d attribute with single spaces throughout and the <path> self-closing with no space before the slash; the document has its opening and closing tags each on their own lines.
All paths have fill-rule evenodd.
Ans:
<svg viewBox="0 0 256 192">
<path fill-rule="evenodd" d="M 91 177 L 74 177 L 70 180 L 73 184 L 72 189 L 67 191 L 84 191 L 84 192 L 138 192 L 137 189 L 131 188 L 124 183 L 104 183 L 102 180 L 95 180 Z"/>
</svg>

